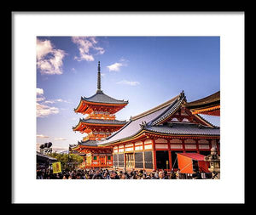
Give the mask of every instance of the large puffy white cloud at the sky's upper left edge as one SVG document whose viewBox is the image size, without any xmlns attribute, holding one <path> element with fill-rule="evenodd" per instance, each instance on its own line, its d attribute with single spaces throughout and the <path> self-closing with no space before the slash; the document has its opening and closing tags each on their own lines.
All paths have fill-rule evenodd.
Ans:
<svg viewBox="0 0 256 215">
<path fill-rule="evenodd" d="M 63 50 L 53 48 L 49 40 L 37 39 L 37 66 L 41 74 L 61 75 L 65 54 Z"/>
</svg>

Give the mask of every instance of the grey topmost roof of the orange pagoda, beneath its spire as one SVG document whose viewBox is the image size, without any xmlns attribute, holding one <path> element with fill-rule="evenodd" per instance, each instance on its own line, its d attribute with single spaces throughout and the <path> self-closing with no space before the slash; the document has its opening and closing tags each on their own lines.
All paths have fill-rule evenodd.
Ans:
<svg viewBox="0 0 256 215">
<path fill-rule="evenodd" d="M 98 91 L 94 95 L 92 95 L 88 98 L 81 97 L 81 99 L 84 101 L 89 101 L 89 102 L 94 102 L 94 103 L 105 103 L 105 104 L 113 104 L 113 105 L 127 105 L 128 104 L 128 101 L 113 99 L 112 97 L 106 95 L 102 91 Z"/>
</svg>

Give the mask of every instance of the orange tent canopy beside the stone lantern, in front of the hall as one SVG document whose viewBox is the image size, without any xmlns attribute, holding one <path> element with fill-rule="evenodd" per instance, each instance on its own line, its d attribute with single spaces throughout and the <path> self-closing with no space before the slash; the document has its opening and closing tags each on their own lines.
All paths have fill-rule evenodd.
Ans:
<svg viewBox="0 0 256 215">
<path fill-rule="evenodd" d="M 210 173 L 209 162 L 205 161 L 205 156 L 198 153 L 177 153 L 177 164 L 180 173 Z"/>
</svg>

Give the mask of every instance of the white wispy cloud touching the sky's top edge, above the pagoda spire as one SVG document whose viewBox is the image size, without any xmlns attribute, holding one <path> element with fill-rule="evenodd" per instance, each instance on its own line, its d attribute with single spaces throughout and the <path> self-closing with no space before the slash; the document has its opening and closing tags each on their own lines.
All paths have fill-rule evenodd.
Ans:
<svg viewBox="0 0 256 215">
<path fill-rule="evenodd" d="M 104 48 L 96 46 L 96 37 L 72 37 L 72 42 L 79 48 L 80 56 L 74 57 L 78 61 L 94 61 L 93 55 L 105 53 Z"/>
</svg>

